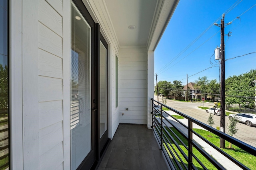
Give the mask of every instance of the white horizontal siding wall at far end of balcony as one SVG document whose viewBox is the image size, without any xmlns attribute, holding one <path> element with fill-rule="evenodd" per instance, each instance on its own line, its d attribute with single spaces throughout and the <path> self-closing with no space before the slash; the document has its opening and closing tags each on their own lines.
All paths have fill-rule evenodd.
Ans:
<svg viewBox="0 0 256 170">
<path fill-rule="evenodd" d="M 147 124 L 148 53 L 145 48 L 121 48 L 119 60 L 120 123 Z"/>
</svg>

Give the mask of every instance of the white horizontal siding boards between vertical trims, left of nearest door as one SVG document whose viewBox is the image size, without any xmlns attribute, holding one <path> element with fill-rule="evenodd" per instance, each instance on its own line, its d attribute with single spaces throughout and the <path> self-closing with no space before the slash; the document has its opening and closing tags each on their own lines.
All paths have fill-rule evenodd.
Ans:
<svg viewBox="0 0 256 170">
<path fill-rule="evenodd" d="M 68 4 L 70 6 L 70 2 Z M 64 125 L 63 37 L 65 35 L 62 16 L 62 0 L 38 0 L 38 150 L 40 169 L 64 169 L 64 164 L 68 165 L 70 162 L 68 159 L 68 162 L 64 163 L 64 152 L 66 152 L 63 144 L 64 126 L 69 127 L 70 122 Z M 70 32 L 68 35 L 70 37 Z M 66 41 L 70 41 L 70 39 Z M 66 157 L 70 158 L 70 156 Z"/>
</svg>

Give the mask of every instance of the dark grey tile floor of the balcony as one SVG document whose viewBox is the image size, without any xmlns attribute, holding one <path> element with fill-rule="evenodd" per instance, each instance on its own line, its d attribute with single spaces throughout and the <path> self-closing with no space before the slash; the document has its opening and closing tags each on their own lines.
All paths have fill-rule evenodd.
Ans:
<svg viewBox="0 0 256 170">
<path fill-rule="evenodd" d="M 98 170 L 168 170 L 159 149 L 152 129 L 120 123 Z"/>
</svg>

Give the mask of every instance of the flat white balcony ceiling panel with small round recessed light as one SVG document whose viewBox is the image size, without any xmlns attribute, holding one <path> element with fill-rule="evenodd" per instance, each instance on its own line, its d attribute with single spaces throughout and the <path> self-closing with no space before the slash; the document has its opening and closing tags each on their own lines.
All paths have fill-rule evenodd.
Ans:
<svg viewBox="0 0 256 170">
<path fill-rule="evenodd" d="M 105 0 L 105 3 L 119 45 L 146 47 L 159 0 Z M 135 25 L 135 29 L 129 29 L 129 25 Z"/>
</svg>

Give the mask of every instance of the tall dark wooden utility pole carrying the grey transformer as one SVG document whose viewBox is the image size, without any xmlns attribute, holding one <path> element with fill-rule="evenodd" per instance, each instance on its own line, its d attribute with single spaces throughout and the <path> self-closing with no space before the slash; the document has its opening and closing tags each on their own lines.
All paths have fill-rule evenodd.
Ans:
<svg viewBox="0 0 256 170">
<path fill-rule="evenodd" d="M 224 45 L 224 17 L 222 14 L 222 20 L 220 24 L 220 127 L 223 127 L 225 133 L 225 45 Z M 225 140 L 220 138 L 220 148 L 225 148 Z"/>
</svg>

